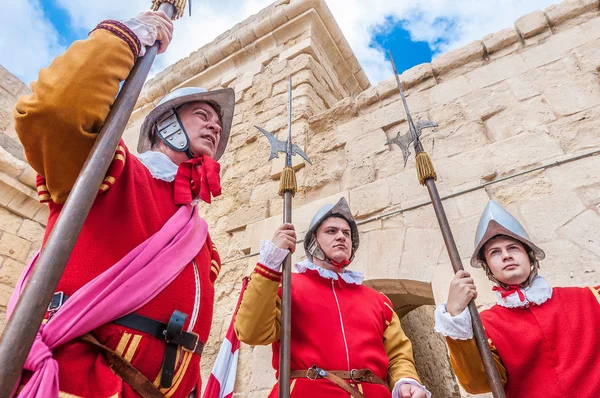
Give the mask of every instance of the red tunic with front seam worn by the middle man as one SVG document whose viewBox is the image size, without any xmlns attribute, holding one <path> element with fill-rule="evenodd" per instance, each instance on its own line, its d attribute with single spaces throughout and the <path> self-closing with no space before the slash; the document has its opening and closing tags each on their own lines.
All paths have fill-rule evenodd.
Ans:
<svg viewBox="0 0 600 398">
<path fill-rule="evenodd" d="M 292 274 L 291 311 L 291 370 L 306 370 L 313 365 L 327 370 L 368 368 L 387 379 L 389 359 L 383 335 L 393 311 L 383 294 L 307 270 Z M 272 346 L 277 373 L 279 346 L 279 341 Z M 277 397 L 277 386 L 269 397 Z M 290 388 L 293 397 L 348 397 L 347 392 L 326 379 L 295 379 Z M 369 398 L 391 395 L 386 386 L 378 384 L 361 383 L 360 388 Z"/>
</svg>

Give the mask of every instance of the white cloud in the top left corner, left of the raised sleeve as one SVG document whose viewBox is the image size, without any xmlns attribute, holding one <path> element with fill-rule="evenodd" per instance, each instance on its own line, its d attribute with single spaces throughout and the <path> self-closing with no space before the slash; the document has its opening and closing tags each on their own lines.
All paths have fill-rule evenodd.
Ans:
<svg viewBox="0 0 600 398">
<path fill-rule="evenodd" d="M 38 0 L 3 2 L 0 13 L 0 65 L 29 83 L 64 51 Z"/>
</svg>

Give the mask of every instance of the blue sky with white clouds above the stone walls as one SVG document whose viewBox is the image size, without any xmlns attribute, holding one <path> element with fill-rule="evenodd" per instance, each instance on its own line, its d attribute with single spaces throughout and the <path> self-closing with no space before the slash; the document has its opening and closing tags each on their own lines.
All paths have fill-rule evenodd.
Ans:
<svg viewBox="0 0 600 398">
<path fill-rule="evenodd" d="M 209 43 L 274 0 L 194 0 L 194 15 L 176 22 L 169 51 L 157 72 Z M 510 27 L 556 0 L 326 0 L 372 84 L 398 71 Z M 150 0 L 13 0 L 0 14 L 0 65 L 25 83 L 35 80 L 74 40 L 104 19 L 124 20 L 148 9 Z M 185 40 L 183 39 L 185 38 Z"/>
</svg>

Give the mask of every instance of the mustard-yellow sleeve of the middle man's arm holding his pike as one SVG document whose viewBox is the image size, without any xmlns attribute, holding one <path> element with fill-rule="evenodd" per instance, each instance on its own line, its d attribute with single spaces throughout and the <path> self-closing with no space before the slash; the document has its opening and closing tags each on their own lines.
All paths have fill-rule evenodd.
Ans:
<svg viewBox="0 0 600 398">
<path fill-rule="evenodd" d="M 235 334 L 249 345 L 269 345 L 281 335 L 281 273 L 257 264 L 235 317 Z"/>
</svg>

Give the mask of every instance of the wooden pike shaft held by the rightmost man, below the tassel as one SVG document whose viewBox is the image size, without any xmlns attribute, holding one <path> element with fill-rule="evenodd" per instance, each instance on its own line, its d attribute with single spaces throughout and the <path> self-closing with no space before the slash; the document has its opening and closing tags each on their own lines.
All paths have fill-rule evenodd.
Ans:
<svg viewBox="0 0 600 398">
<path fill-rule="evenodd" d="M 442 201 L 440 199 L 440 194 L 437 190 L 437 186 L 435 185 L 435 181 L 433 181 L 432 178 L 425 180 L 425 185 L 427 186 L 427 191 L 429 192 L 429 197 L 431 198 L 431 203 L 435 210 L 435 215 L 440 225 L 440 230 L 442 231 L 444 243 L 446 244 L 446 249 L 448 250 L 448 256 L 450 257 L 450 262 L 452 263 L 452 268 L 454 268 L 454 273 L 457 273 L 458 271 L 464 270 L 464 268 L 462 265 L 462 260 L 460 259 L 458 248 L 456 247 L 456 242 L 454 241 L 454 236 L 452 235 L 452 230 L 450 229 L 448 217 L 446 217 L 446 212 L 444 211 L 444 206 L 442 205 Z M 494 358 L 492 357 L 492 352 L 490 351 L 490 347 L 487 342 L 487 337 L 483 330 L 481 317 L 479 316 L 475 301 L 473 300 L 471 300 L 469 303 L 469 313 L 471 314 L 471 320 L 473 323 L 475 342 L 477 343 L 477 348 L 479 348 L 479 354 L 481 355 L 481 359 L 483 361 L 483 367 L 485 368 L 485 373 L 492 390 L 492 395 L 494 398 L 505 398 L 504 388 L 502 386 L 502 382 L 500 381 L 500 375 L 498 374 L 498 369 L 496 368 Z"/>
</svg>

